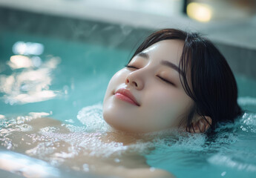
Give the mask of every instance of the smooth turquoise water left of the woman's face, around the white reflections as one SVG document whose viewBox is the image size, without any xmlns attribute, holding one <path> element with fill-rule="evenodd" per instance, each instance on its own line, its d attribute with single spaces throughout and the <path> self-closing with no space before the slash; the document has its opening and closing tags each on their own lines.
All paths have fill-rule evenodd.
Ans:
<svg viewBox="0 0 256 178">
<path fill-rule="evenodd" d="M 62 121 L 74 119 L 79 109 L 102 101 L 109 79 L 120 67 L 125 65 L 131 53 L 130 50 L 108 48 L 100 44 L 65 42 L 47 37 L 2 33 L 0 44 L 1 78 L 13 76 L 17 82 L 19 75 L 27 71 L 26 68 L 11 70 L 10 66 L 6 64 L 10 56 L 14 55 L 13 44 L 19 41 L 44 44 L 44 53 L 39 56 L 42 64 L 40 67 L 34 67 L 33 70 L 39 68 L 49 70 L 47 73 L 42 72 L 42 75 L 50 78 L 50 85 L 47 87 L 56 93 L 56 96 L 42 102 L 25 103 L 1 99 L 1 114 L 3 115 L 8 115 L 13 111 L 17 114 L 33 111 L 51 113 L 53 118 Z M 4 53 L 2 53 L 3 51 Z M 30 55 L 30 57 L 33 56 Z M 49 61 L 56 60 L 58 64 L 55 68 L 43 66 Z M 31 83 L 26 80 L 21 82 L 23 82 L 22 85 Z M 42 81 L 38 85 L 42 85 L 44 82 Z M 12 86 L 13 88 L 16 87 Z M 45 89 L 42 88 L 42 90 Z M 21 89 L 19 93 L 26 93 L 26 90 L 22 91 Z M 1 92 L 0 96 L 4 96 L 4 94 L 6 95 L 6 93 Z"/>
</svg>

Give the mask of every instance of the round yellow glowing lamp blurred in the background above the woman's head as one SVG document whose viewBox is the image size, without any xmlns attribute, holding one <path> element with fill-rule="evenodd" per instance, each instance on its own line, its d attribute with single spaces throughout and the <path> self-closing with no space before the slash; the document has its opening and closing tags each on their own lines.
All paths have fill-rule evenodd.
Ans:
<svg viewBox="0 0 256 178">
<path fill-rule="evenodd" d="M 199 22 L 209 22 L 212 16 L 212 10 L 209 5 L 191 2 L 187 7 L 188 16 Z"/>
</svg>

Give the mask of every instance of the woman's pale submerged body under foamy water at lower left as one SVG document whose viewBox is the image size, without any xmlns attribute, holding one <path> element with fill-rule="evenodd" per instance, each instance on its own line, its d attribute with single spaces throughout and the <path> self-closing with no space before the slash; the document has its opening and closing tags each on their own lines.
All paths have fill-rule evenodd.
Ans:
<svg viewBox="0 0 256 178">
<path fill-rule="evenodd" d="M 153 143 L 142 136 L 140 139 L 139 136 L 124 136 L 122 133 L 120 136 L 115 131 L 72 132 L 62 122 L 50 118 L 19 119 L 7 128 L 2 128 L 0 134 L 4 138 L 0 141 L 1 145 L 61 168 L 117 177 L 174 177 L 167 171 L 147 165 L 145 158 L 140 155 L 145 150 L 138 147 L 144 144 L 145 148 L 150 149 Z M 1 169 L 17 169 L 11 160 L 8 163 L 0 158 L 0 162 L 5 162 L 0 164 Z M 33 168 L 23 170 L 36 173 Z"/>
</svg>

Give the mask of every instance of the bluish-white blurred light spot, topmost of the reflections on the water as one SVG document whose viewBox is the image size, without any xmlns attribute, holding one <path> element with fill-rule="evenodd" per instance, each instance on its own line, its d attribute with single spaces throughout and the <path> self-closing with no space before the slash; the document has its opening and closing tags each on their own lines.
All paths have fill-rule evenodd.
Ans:
<svg viewBox="0 0 256 178">
<path fill-rule="evenodd" d="M 22 55 L 41 55 L 44 52 L 44 45 L 33 42 L 16 42 L 13 44 L 13 53 Z"/>
</svg>

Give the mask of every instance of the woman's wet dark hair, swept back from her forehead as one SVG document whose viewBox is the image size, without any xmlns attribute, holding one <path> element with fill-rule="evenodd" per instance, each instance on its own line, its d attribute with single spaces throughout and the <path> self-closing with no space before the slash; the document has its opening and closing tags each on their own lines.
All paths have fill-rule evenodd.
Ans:
<svg viewBox="0 0 256 178">
<path fill-rule="evenodd" d="M 165 39 L 180 39 L 184 42 L 179 63 L 180 70 L 183 71 L 179 72 L 180 82 L 187 95 L 194 100 L 194 105 L 185 118 L 186 131 L 194 130 L 191 124 L 194 114 L 203 116 L 204 119 L 204 116 L 211 117 L 211 124 L 206 119 L 211 125 L 211 133 L 217 128 L 218 122 L 234 122 L 242 113 L 237 104 L 237 83 L 226 59 L 209 39 L 183 30 L 158 30 L 140 44 L 131 59 L 145 48 Z M 190 76 L 191 88 L 187 76 Z"/>
</svg>

